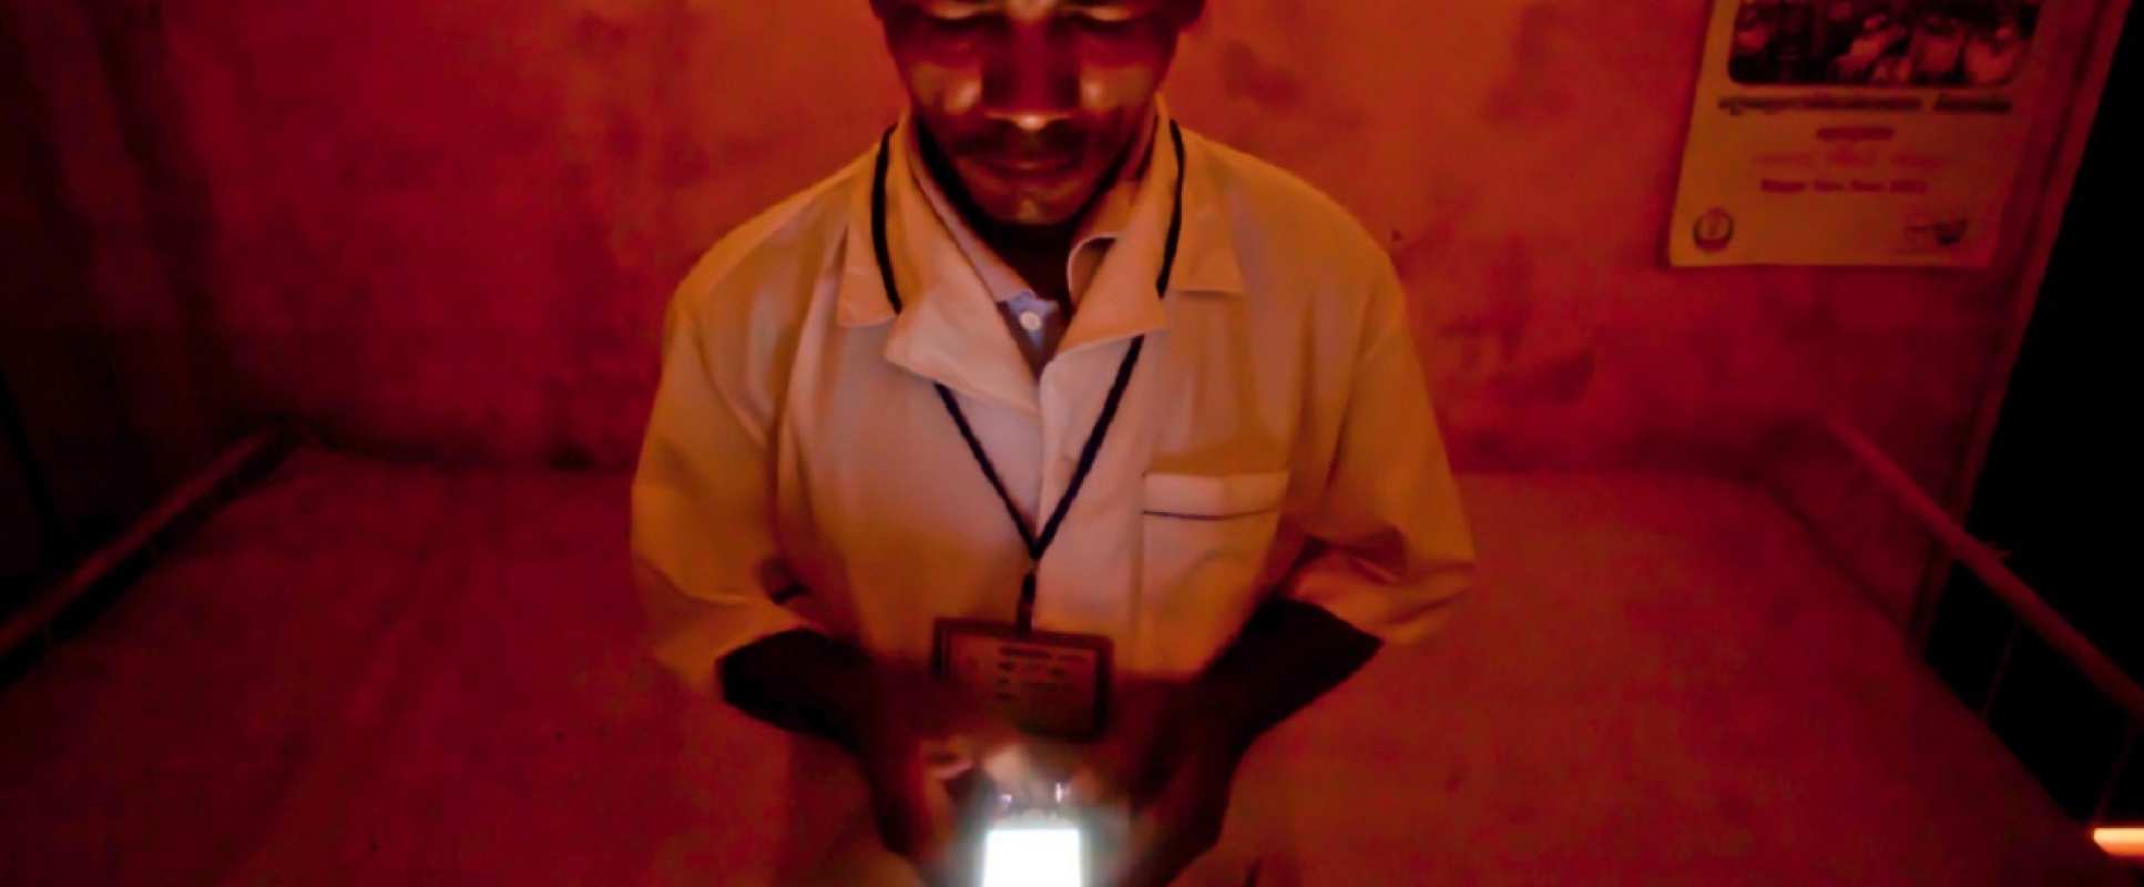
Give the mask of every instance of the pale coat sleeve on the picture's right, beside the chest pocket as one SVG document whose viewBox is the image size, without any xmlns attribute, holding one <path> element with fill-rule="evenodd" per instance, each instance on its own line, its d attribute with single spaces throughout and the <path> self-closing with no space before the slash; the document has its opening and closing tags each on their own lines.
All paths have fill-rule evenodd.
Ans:
<svg viewBox="0 0 2144 887">
<path fill-rule="evenodd" d="M 1306 557 L 1282 583 L 1387 643 L 1419 641 L 1473 585 L 1473 536 L 1391 261 L 1376 264 L 1323 491 L 1295 516 Z"/>
</svg>

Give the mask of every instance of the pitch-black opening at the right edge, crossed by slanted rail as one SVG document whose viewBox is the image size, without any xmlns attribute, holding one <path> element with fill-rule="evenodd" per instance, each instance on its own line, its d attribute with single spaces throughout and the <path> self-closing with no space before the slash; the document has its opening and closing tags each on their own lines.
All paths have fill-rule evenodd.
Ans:
<svg viewBox="0 0 2144 887">
<path fill-rule="evenodd" d="M 2123 30 L 2084 163 L 2063 216 L 2009 396 L 1972 497 L 1968 529 L 2129 675 L 2144 675 L 2138 484 L 2140 191 L 2144 139 L 2129 118 L 2138 28 Z M 2144 750 L 2120 711 L 2069 664 L 2020 632 L 1964 570 L 1953 570 L 1930 662 L 2078 818 L 2144 821 Z M 2127 763 L 2123 754 L 2127 748 Z M 2110 782 L 2120 767 L 2127 776 Z"/>
</svg>

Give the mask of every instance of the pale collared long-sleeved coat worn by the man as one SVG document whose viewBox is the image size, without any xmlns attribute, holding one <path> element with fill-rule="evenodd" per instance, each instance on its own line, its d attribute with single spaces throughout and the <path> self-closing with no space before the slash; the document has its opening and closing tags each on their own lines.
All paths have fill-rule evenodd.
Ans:
<svg viewBox="0 0 2144 887">
<path fill-rule="evenodd" d="M 1104 634 L 1119 675 L 1201 668 L 1267 596 L 1385 641 L 1445 619 L 1473 546 L 1391 261 L 1297 178 L 1186 131 L 1183 236 L 1153 281 L 1166 109 L 1121 238 L 1040 377 L 894 139 L 725 236 L 678 289 L 632 482 L 658 656 L 690 686 L 810 626 L 924 660 L 939 617 L 1012 619 L 1027 570 L 930 381 L 952 388 L 1040 527 L 1134 336 L 1145 356 L 1040 566 L 1036 628 Z M 903 120 L 900 126 L 913 126 Z M 795 598 L 776 602 L 785 589 Z"/>
</svg>

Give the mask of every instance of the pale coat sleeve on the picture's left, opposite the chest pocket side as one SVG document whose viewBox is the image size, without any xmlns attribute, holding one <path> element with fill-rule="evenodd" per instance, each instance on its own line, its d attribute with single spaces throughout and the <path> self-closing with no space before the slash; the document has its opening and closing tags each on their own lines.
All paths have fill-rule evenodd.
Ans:
<svg viewBox="0 0 2144 887">
<path fill-rule="evenodd" d="M 729 651 L 813 628 L 774 602 L 791 585 L 774 536 L 768 373 L 746 366 L 744 324 L 705 328 L 693 285 L 662 324 L 662 381 L 632 478 L 632 576 L 652 651 L 693 690 L 710 690 Z"/>
</svg>

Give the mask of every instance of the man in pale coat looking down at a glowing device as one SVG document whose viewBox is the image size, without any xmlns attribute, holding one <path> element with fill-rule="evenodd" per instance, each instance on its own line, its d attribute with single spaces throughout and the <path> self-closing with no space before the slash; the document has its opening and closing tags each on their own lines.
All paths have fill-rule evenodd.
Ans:
<svg viewBox="0 0 2144 887">
<path fill-rule="evenodd" d="M 1168 116 L 1203 0 L 873 6 L 909 111 L 667 315 L 658 653 L 847 750 L 930 881 L 973 872 L 986 771 L 1128 808 L 1102 881 L 1160 885 L 1263 731 L 1471 583 L 1406 296 L 1331 199 Z"/>
</svg>

